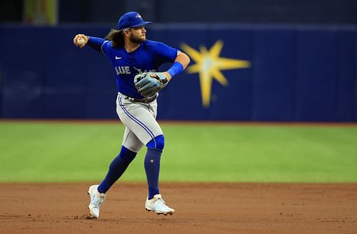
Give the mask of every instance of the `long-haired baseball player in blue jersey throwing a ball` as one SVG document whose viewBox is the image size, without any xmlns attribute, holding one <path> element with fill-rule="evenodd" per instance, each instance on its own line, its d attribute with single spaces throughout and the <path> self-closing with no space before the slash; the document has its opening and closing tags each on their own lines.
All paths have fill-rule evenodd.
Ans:
<svg viewBox="0 0 357 234">
<path fill-rule="evenodd" d="M 119 18 L 118 28 L 111 29 L 105 39 L 77 34 L 74 45 L 91 48 L 106 55 L 116 73 L 118 95 L 116 112 L 126 126 L 121 151 L 111 162 L 109 171 L 101 184 L 89 187 L 89 211 L 99 217 L 99 208 L 106 192 L 120 178 L 137 152 L 147 148 L 144 159 L 149 195 L 145 208 L 157 214 L 173 214 L 166 206 L 159 191 L 161 153 L 164 149 L 164 133 L 156 122 L 158 92 L 163 89 L 190 62 L 188 56 L 164 43 L 146 40 L 146 26 L 141 15 L 127 12 Z M 159 72 L 163 63 L 172 63 L 171 68 Z"/>
</svg>

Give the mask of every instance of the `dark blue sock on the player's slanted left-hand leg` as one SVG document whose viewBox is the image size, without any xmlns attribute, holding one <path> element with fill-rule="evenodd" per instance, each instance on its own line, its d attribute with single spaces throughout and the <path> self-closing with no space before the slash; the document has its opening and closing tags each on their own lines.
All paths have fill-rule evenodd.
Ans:
<svg viewBox="0 0 357 234">
<path fill-rule="evenodd" d="M 135 156 L 136 152 L 126 149 L 124 146 L 121 147 L 119 155 L 116 156 L 113 161 L 111 161 L 106 177 L 98 186 L 99 193 L 106 193 L 109 188 L 111 188 L 111 186 L 128 168 L 129 164 L 134 160 Z"/>
</svg>

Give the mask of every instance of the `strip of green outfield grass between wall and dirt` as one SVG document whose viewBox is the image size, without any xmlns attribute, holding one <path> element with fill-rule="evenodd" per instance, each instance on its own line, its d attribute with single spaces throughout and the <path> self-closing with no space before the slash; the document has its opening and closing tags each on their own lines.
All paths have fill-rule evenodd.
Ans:
<svg viewBox="0 0 357 234">
<path fill-rule="evenodd" d="M 357 127 L 161 124 L 161 181 L 357 182 Z M 0 181 L 101 181 L 118 123 L 0 122 Z M 145 181 L 142 149 L 121 178 Z"/>
</svg>

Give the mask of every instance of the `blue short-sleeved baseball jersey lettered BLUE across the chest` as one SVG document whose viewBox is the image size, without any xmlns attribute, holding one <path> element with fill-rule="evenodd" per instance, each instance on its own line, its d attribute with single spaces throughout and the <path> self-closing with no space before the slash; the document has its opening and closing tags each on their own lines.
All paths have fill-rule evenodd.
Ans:
<svg viewBox="0 0 357 234">
<path fill-rule="evenodd" d="M 101 51 L 111 60 L 116 73 L 118 92 L 134 98 L 144 98 L 136 90 L 134 77 L 139 73 L 156 72 L 164 63 L 174 63 L 179 50 L 171 48 L 158 41 L 141 43 L 139 48 L 131 53 L 124 47 L 115 48 L 111 41 L 104 41 Z"/>
</svg>

